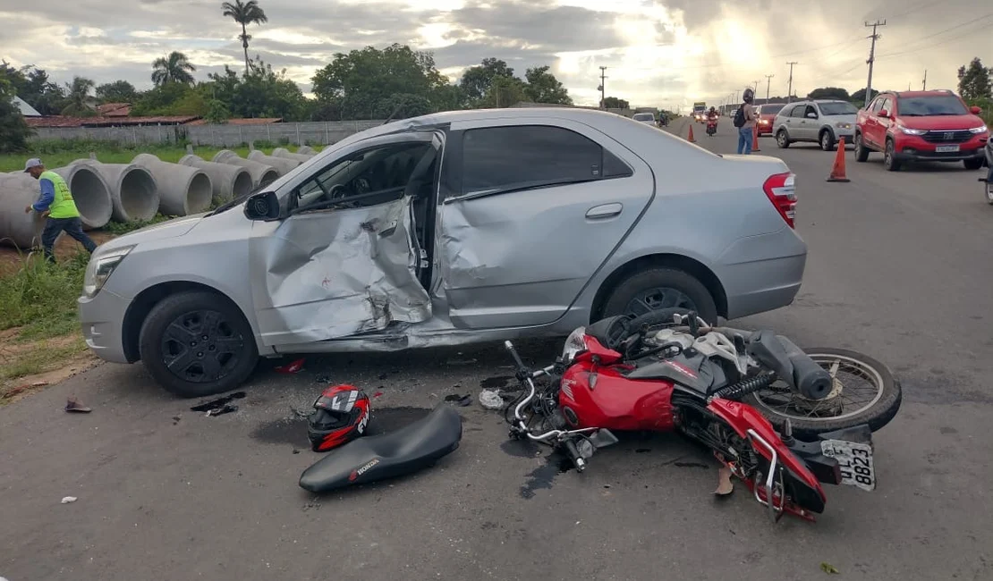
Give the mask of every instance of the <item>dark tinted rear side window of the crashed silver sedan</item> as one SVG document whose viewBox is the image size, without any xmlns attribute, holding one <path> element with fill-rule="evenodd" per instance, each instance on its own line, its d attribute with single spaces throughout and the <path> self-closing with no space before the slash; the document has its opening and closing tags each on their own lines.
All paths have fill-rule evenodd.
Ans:
<svg viewBox="0 0 993 581">
<path fill-rule="evenodd" d="M 574 131 L 547 125 L 467 130 L 462 157 L 463 194 L 633 174 L 600 144 Z"/>
</svg>

